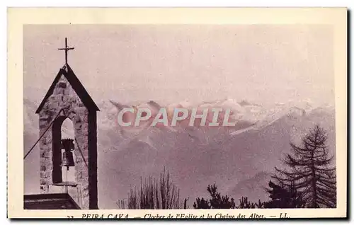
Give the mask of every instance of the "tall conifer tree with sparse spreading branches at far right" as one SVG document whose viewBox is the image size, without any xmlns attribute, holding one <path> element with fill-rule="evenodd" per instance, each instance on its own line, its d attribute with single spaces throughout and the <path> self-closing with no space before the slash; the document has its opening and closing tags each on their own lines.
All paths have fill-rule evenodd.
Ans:
<svg viewBox="0 0 354 225">
<path fill-rule="evenodd" d="M 336 168 L 331 166 L 333 156 L 326 142 L 326 132 L 316 125 L 302 138 L 301 146 L 290 143 L 292 153 L 284 159 L 287 168 L 275 167 L 273 178 L 281 185 L 293 185 L 305 207 L 336 207 Z"/>
</svg>

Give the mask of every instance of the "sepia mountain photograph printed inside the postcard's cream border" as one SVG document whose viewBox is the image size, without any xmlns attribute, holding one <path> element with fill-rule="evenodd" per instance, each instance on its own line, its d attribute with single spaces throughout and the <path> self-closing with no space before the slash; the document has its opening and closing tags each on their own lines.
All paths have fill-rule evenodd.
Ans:
<svg viewBox="0 0 354 225">
<path fill-rule="evenodd" d="M 25 211 L 281 219 L 290 213 L 238 210 L 338 208 L 338 152 L 347 150 L 338 149 L 346 108 L 334 25 L 57 23 L 22 32 Z M 212 209 L 232 211 L 209 217 Z"/>
</svg>

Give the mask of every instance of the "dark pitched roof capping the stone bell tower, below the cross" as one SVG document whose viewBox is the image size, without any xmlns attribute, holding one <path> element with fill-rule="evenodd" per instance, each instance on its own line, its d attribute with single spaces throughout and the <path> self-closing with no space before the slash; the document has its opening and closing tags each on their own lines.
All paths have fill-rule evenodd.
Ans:
<svg viewBox="0 0 354 225">
<path fill-rule="evenodd" d="M 72 71 L 72 68 L 69 67 L 69 64 L 65 64 L 62 69 L 59 70 L 57 76 L 55 77 L 52 85 L 50 86 L 49 90 L 47 91 L 47 94 L 43 98 L 42 102 L 40 103 L 40 106 L 38 106 L 38 109 L 35 111 L 35 113 L 40 113 L 40 110 L 42 110 L 43 106 L 45 105 L 45 102 L 47 101 L 47 98 L 49 98 L 53 90 L 55 88 L 55 85 L 60 79 L 60 76 L 64 75 L 65 78 L 69 81 L 69 83 L 72 85 L 72 88 L 76 92 L 76 94 L 79 96 L 81 99 L 82 103 L 86 106 L 88 110 L 96 110 L 99 111 L 96 103 L 93 102 L 91 96 L 89 93 L 87 93 L 86 89 L 84 86 L 81 84 L 77 76 L 74 74 L 74 71 Z"/>
</svg>

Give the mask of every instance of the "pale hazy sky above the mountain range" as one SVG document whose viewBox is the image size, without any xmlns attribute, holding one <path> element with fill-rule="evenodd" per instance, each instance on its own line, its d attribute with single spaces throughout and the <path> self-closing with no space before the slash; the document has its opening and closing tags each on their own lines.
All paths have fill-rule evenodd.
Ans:
<svg viewBox="0 0 354 225">
<path fill-rule="evenodd" d="M 101 100 L 234 98 L 333 103 L 326 25 L 25 25 L 25 98 L 37 103 L 64 64 Z"/>
</svg>

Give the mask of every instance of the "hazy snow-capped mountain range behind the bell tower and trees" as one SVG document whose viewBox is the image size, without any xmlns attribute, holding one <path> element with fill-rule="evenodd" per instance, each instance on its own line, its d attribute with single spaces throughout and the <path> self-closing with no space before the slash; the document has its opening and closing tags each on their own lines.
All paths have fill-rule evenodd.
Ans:
<svg viewBox="0 0 354 225">
<path fill-rule="evenodd" d="M 118 100 L 113 100 L 119 103 Z M 25 100 L 25 152 L 38 138 L 35 105 Z M 98 104 L 98 203 L 101 209 L 113 209 L 115 201 L 127 197 L 140 177 L 159 176 L 166 168 L 173 183 L 181 188 L 181 198 L 207 197 L 207 185 L 216 183 L 222 194 L 237 198 L 247 195 L 257 200 L 260 190 L 247 187 L 267 185 L 274 166 L 290 150 L 289 142 L 299 139 L 314 124 L 329 133 L 329 149 L 335 152 L 334 110 L 312 103 L 258 105 L 247 100 L 227 98 L 213 102 L 181 101 L 164 105 L 153 101 L 135 104 L 136 108 L 159 105 L 173 108 L 230 108 L 235 127 L 120 127 L 119 109 L 110 100 Z M 130 103 L 125 105 L 132 106 Z M 67 135 L 70 129 L 63 125 Z M 36 152 L 37 151 L 37 152 Z M 39 189 L 38 149 L 25 161 L 25 192 Z M 38 177 L 38 180 L 33 178 Z M 246 185 L 245 185 L 246 184 Z M 263 199 L 267 199 L 264 193 Z"/>
</svg>

